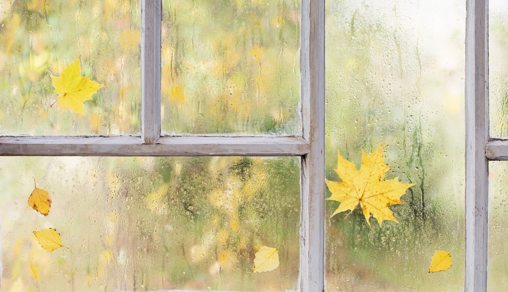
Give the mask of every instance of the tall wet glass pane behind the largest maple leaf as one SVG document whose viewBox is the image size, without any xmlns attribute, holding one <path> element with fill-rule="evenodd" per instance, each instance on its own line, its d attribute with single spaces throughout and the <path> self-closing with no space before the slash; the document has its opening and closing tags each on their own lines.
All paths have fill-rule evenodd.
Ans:
<svg viewBox="0 0 508 292">
<path fill-rule="evenodd" d="M 382 227 L 326 201 L 327 291 L 463 289 L 464 27 L 464 1 L 326 2 L 326 177 L 385 143 L 384 179 L 415 184 Z"/>
</svg>

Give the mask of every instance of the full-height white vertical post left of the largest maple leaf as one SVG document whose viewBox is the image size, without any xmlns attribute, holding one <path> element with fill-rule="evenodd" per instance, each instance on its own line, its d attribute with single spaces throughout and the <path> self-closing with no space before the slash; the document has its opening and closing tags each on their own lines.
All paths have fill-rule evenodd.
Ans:
<svg viewBox="0 0 508 292">
<path fill-rule="evenodd" d="M 325 1 L 302 1 L 303 138 L 300 217 L 300 291 L 325 289 Z"/>
</svg>

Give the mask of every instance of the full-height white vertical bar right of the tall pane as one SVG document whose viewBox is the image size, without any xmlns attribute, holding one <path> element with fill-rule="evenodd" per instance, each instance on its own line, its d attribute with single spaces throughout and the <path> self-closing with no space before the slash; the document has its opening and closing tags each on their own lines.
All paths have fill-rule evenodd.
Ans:
<svg viewBox="0 0 508 292">
<path fill-rule="evenodd" d="M 488 0 L 466 2 L 465 291 L 487 291 L 488 258 Z"/>
</svg>

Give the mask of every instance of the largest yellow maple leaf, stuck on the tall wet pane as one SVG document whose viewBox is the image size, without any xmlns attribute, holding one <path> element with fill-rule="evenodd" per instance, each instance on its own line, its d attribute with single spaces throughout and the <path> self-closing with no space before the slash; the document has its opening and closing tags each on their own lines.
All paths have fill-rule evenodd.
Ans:
<svg viewBox="0 0 508 292">
<path fill-rule="evenodd" d="M 383 180 L 383 176 L 391 167 L 385 165 L 383 145 L 371 155 L 367 155 L 362 150 L 362 166 L 359 171 L 353 162 L 343 159 L 340 152 L 337 151 L 338 163 L 335 171 L 342 181 L 336 182 L 326 179 L 328 189 L 332 192 L 327 200 L 340 202 L 340 206 L 332 216 L 346 210 L 351 210 L 349 213 L 351 214 L 356 206 L 360 205 L 369 226 L 371 213 L 377 219 L 379 226 L 383 220 L 392 220 L 398 223 L 388 206 L 403 204 L 400 201 L 400 196 L 415 184 L 402 184 L 398 181 L 398 177 Z"/>
</svg>

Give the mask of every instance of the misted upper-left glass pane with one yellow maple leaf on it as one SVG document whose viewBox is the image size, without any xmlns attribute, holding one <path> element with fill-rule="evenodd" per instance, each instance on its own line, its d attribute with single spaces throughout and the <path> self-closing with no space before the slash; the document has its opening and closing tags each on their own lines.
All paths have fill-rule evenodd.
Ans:
<svg viewBox="0 0 508 292">
<path fill-rule="evenodd" d="M 138 1 L 2 1 L 0 22 L 0 135 L 139 133 Z M 105 86 L 61 113 L 70 95 L 51 75 L 78 58 L 81 76 Z"/>
</svg>

